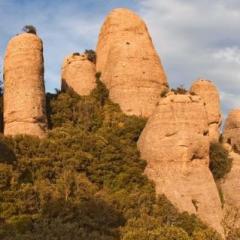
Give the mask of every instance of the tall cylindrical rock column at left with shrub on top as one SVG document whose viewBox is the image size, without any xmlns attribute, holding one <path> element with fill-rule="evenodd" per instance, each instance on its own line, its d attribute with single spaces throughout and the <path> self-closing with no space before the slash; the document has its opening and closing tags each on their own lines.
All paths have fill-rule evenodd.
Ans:
<svg viewBox="0 0 240 240">
<path fill-rule="evenodd" d="M 4 134 L 44 137 L 47 128 L 43 45 L 30 33 L 13 37 L 4 59 Z"/>
</svg>

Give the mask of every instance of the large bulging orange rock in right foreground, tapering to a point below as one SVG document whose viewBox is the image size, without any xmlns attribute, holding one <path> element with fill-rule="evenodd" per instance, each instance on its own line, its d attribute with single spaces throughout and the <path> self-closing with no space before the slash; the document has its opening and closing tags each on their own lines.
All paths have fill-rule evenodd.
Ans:
<svg viewBox="0 0 240 240">
<path fill-rule="evenodd" d="M 180 211 L 197 214 L 223 234 L 222 210 L 209 170 L 207 113 L 197 95 L 169 93 L 144 128 L 138 147 L 145 173 Z"/>
</svg>

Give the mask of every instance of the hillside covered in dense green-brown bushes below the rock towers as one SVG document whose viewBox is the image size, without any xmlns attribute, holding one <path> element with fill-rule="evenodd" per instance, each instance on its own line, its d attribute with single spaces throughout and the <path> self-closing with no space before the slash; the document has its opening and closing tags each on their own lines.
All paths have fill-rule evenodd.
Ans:
<svg viewBox="0 0 240 240">
<path fill-rule="evenodd" d="M 125 116 L 97 78 L 90 96 L 47 95 L 46 139 L 0 138 L 1 240 L 217 240 L 144 175 L 136 142 L 146 120 Z"/>
</svg>

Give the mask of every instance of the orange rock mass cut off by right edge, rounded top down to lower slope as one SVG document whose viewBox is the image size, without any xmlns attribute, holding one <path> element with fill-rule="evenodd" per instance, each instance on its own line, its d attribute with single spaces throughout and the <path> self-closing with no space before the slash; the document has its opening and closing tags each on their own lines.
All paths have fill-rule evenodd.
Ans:
<svg viewBox="0 0 240 240">
<path fill-rule="evenodd" d="M 240 226 L 240 109 L 232 110 L 225 122 L 223 140 L 231 148 L 232 168 L 222 180 L 221 188 L 228 211 L 239 211 Z"/>
</svg>

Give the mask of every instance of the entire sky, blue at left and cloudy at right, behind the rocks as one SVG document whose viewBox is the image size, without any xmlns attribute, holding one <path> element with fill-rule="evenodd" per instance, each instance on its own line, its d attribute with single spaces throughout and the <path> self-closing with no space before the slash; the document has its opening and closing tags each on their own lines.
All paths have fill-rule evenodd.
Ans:
<svg viewBox="0 0 240 240">
<path fill-rule="evenodd" d="M 95 49 L 100 27 L 115 7 L 147 23 L 171 87 L 213 80 L 224 115 L 240 107 L 239 0 L 0 0 L 0 63 L 8 40 L 26 24 L 44 42 L 47 91 L 60 87 L 63 58 Z"/>
</svg>

